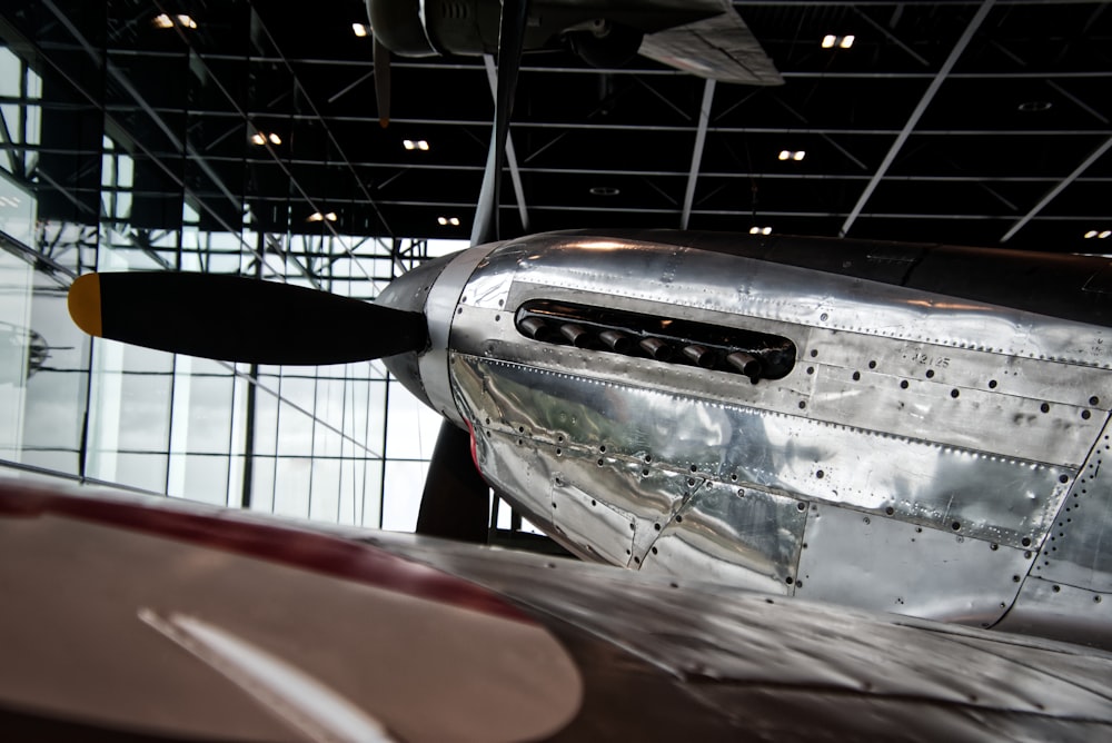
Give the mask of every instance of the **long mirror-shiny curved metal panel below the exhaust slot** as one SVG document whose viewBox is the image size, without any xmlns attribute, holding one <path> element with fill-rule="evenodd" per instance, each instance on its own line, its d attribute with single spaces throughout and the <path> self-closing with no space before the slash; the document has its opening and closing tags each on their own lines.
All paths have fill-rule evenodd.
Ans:
<svg viewBox="0 0 1112 743">
<path fill-rule="evenodd" d="M 457 357 L 455 368 L 477 428 L 524 427 L 560 444 L 564 456 L 593 458 L 606 447 L 623 460 L 651 457 L 649 470 L 693 472 L 1014 546 L 1049 528 L 1065 492 L 1068 470 L 1037 463 L 499 361 Z M 636 482 L 615 493 L 602 485 L 594 492 L 604 501 L 638 498 Z"/>
</svg>

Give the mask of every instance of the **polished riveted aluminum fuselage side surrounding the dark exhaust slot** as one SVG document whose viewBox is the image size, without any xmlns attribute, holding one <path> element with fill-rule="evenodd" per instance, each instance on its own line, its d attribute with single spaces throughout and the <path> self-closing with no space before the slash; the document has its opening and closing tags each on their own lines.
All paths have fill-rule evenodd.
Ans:
<svg viewBox="0 0 1112 743">
<path fill-rule="evenodd" d="M 586 234 L 471 248 L 415 296 L 421 392 L 576 554 L 1112 645 L 1109 328 Z M 515 324 L 535 300 L 787 338 L 795 363 L 754 383 L 543 343 Z"/>
</svg>

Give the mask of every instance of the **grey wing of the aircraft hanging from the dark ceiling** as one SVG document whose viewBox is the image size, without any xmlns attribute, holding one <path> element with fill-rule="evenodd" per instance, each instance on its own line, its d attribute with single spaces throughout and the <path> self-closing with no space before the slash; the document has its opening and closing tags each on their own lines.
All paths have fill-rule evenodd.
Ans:
<svg viewBox="0 0 1112 743">
<path fill-rule="evenodd" d="M 780 86 L 784 78 L 729 3 L 724 12 L 645 36 L 645 57 L 722 82 Z"/>
</svg>

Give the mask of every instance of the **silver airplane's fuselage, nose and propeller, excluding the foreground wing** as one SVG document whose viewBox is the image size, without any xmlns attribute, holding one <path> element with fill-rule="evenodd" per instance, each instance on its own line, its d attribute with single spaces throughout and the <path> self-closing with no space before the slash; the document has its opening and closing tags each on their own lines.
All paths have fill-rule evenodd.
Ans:
<svg viewBox="0 0 1112 743">
<path fill-rule="evenodd" d="M 424 534 L 483 541 L 493 488 L 586 559 L 1112 647 L 1109 261 L 667 230 L 499 240 L 528 18 L 503 8 L 473 247 L 375 304 L 89 275 L 77 323 L 227 360 L 384 358 L 445 417 Z"/>
</svg>

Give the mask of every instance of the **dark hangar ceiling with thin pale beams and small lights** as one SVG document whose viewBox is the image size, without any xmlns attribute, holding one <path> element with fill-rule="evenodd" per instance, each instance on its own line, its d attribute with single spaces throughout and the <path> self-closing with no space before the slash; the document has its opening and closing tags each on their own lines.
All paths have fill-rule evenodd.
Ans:
<svg viewBox="0 0 1112 743">
<path fill-rule="evenodd" d="M 0 30 L 43 76 L 27 174 L 43 216 L 96 209 L 108 133 L 136 161 L 137 225 L 172 227 L 185 198 L 215 228 L 238 227 L 246 202 L 271 231 L 320 230 L 306 221 L 320 211 L 340 234 L 467 237 L 494 108 L 481 58 L 396 58 L 384 130 L 370 39 L 351 29 L 360 0 L 14 6 Z M 1112 229 L 1106 3 L 734 6 L 784 86 L 707 86 L 639 57 L 599 70 L 570 52 L 527 56 L 503 234 L 767 226 L 1112 252 L 1085 237 Z M 156 28 L 161 12 L 197 28 Z M 855 41 L 823 49 L 828 33 Z M 256 130 L 281 143 L 252 145 Z"/>
</svg>

